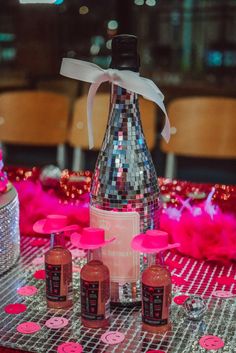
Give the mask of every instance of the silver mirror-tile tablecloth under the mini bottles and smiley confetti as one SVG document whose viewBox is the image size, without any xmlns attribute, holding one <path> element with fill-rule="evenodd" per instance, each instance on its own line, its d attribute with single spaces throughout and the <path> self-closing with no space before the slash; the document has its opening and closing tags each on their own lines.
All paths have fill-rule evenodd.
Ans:
<svg viewBox="0 0 236 353">
<path fill-rule="evenodd" d="M 66 341 L 78 342 L 87 353 L 145 353 L 149 350 L 161 350 L 168 353 L 206 353 L 200 347 L 199 339 L 203 335 L 217 335 L 225 342 L 218 353 L 236 352 L 236 298 L 215 298 L 215 290 L 236 292 L 236 265 L 220 266 L 207 262 L 169 253 L 166 257 L 172 276 L 175 278 L 173 296 L 178 294 L 197 294 L 205 298 L 208 310 L 201 321 L 186 319 L 183 308 L 172 304 L 172 330 L 163 335 L 153 335 L 142 331 L 141 312 L 139 308 L 116 308 L 112 311 L 109 330 L 118 330 L 125 334 L 119 345 L 109 346 L 100 341 L 104 329 L 86 329 L 80 322 L 79 305 L 79 273 L 74 273 L 73 309 L 66 311 L 47 310 L 44 299 L 44 281 L 36 280 L 33 274 L 43 265 L 33 265 L 36 257 L 41 257 L 47 245 L 40 248 L 32 247 L 29 238 L 23 238 L 21 258 L 17 266 L 1 277 L 0 284 L 0 345 L 35 353 L 56 353 L 59 344 Z M 74 263 L 81 265 L 81 260 L 74 258 Z M 229 284 L 217 281 L 219 277 L 231 278 Z M 178 278 L 180 279 L 178 281 Z M 176 281 L 177 279 L 177 281 Z M 181 282 L 182 281 L 182 282 Z M 181 284 L 182 283 L 182 284 Z M 35 285 L 39 291 L 34 297 L 21 297 L 17 288 L 23 285 Z M 18 315 L 9 315 L 4 307 L 10 303 L 24 303 L 27 310 Z M 60 330 L 50 330 L 45 322 L 52 316 L 64 316 L 69 325 Z M 33 335 L 23 335 L 16 327 L 23 321 L 35 321 L 41 330 Z M 1 348 L 0 348 L 1 352 Z"/>
</svg>

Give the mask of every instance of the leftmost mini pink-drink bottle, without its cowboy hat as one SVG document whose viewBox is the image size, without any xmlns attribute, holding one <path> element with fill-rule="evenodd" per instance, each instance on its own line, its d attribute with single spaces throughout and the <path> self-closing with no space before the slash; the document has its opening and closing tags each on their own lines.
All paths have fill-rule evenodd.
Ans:
<svg viewBox="0 0 236 353">
<path fill-rule="evenodd" d="M 63 309 L 72 306 L 72 255 L 65 247 L 63 233 L 51 234 L 51 249 L 45 254 L 47 306 Z"/>
</svg>

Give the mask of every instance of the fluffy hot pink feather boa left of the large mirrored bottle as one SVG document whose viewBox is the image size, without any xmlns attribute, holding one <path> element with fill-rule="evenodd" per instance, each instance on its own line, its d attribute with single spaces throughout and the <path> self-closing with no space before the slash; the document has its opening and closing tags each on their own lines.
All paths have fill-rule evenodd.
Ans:
<svg viewBox="0 0 236 353">
<path fill-rule="evenodd" d="M 81 196 L 76 204 L 60 203 L 53 191 L 44 191 L 41 184 L 31 181 L 14 183 L 20 200 L 20 230 L 22 235 L 34 235 L 33 224 L 49 214 L 68 216 L 69 223 L 78 224 L 81 228 L 89 224 L 89 195 Z"/>
</svg>

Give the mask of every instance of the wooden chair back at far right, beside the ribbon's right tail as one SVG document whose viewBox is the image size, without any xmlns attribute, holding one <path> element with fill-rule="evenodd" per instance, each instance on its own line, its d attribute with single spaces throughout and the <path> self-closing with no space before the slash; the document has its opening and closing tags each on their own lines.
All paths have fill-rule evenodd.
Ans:
<svg viewBox="0 0 236 353">
<path fill-rule="evenodd" d="M 172 136 L 161 150 L 167 154 L 165 176 L 175 177 L 176 156 L 236 158 L 236 99 L 189 97 L 168 106 Z"/>
</svg>

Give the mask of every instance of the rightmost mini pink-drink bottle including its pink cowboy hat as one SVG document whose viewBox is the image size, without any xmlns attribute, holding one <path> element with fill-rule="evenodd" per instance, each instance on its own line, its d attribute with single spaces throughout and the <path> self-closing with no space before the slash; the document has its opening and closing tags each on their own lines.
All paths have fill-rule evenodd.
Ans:
<svg viewBox="0 0 236 353">
<path fill-rule="evenodd" d="M 168 244 L 168 234 L 148 230 L 133 238 L 132 248 L 147 254 L 147 268 L 142 273 L 143 330 L 161 333 L 171 328 L 171 274 L 165 267 L 163 252 L 179 244 Z"/>
</svg>

